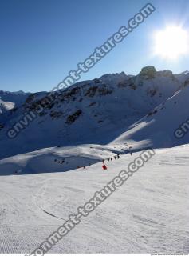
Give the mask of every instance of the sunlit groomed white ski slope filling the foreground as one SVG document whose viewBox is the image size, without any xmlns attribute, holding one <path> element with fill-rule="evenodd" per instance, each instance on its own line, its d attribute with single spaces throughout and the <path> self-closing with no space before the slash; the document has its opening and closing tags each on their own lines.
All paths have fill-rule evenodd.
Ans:
<svg viewBox="0 0 189 256">
<path fill-rule="evenodd" d="M 188 253 L 188 153 L 187 145 L 156 150 L 50 252 Z M 96 162 L 85 170 L 0 176 L 0 252 L 32 252 L 139 154 L 106 162 L 106 171 Z"/>
</svg>

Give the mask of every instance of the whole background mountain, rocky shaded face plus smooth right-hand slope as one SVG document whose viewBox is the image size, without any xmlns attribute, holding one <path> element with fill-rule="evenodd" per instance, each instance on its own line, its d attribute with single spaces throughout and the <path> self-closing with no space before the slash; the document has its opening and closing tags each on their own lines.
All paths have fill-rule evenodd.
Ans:
<svg viewBox="0 0 189 256">
<path fill-rule="evenodd" d="M 28 126 L 22 126 L 16 138 L 7 138 L 7 130 L 21 120 L 23 114 L 35 110 L 37 103 L 43 102 L 46 96 L 44 92 L 30 94 L 22 106 L 0 115 L 1 158 L 26 153 L 29 154 L 26 158 L 30 155 L 33 158 L 32 152 L 38 150 L 34 156 L 44 157 L 45 164 L 48 161 L 43 149 L 52 148 L 54 152 L 57 146 L 66 149 L 65 146 L 88 144 L 89 148 L 96 144 L 108 145 L 112 150 L 113 145 L 123 146 L 129 142 L 132 150 L 139 150 L 146 146 L 170 147 L 187 143 L 187 136 L 183 140 L 174 138 L 174 130 L 187 118 L 187 107 L 183 106 L 188 104 L 188 84 L 187 72 L 174 75 L 169 70 L 156 71 L 152 66 L 143 68 L 137 76 L 122 72 L 78 82 L 63 91 L 55 102 L 45 103 L 44 110 L 28 122 Z M 56 152 L 58 155 L 59 151 Z M 18 164 L 22 170 L 27 166 L 24 162 L 24 165 Z M 66 166 L 64 170 L 72 168 Z M 33 166 L 26 169 L 35 172 Z"/>
</svg>

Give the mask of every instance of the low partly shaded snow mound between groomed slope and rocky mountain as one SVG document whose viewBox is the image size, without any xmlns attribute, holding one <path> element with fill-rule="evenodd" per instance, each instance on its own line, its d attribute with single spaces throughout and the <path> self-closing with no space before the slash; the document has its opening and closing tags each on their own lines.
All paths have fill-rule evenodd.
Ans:
<svg viewBox="0 0 189 256">
<path fill-rule="evenodd" d="M 45 148 L 26 154 L 0 160 L 0 175 L 38 174 L 75 170 L 113 158 L 117 154 L 126 154 L 129 146 L 102 146 L 85 144 Z"/>
</svg>

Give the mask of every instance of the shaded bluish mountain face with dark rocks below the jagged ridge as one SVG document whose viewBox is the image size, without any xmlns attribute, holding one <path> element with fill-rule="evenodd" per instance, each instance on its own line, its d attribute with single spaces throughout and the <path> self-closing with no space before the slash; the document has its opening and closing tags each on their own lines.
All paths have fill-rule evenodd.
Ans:
<svg viewBox="0 0 189 256">
<path fill-rule="evenodd" d="M 156 71 L 148 66 L 137 76 L 122 72 L 78 82 L 63 91 L 57 101 L 45 104 L 45 110 L 24 126 L 18 137 L 7 138 L 7 130 L 45 97 L 43 93 L 31 94 L 21 107 L 0 115 L 0 158 L 57 145 L 112 142 L 185 86 L 188 78 L 188 74 L 175 76 L 169 70 Z"/>
</svg>

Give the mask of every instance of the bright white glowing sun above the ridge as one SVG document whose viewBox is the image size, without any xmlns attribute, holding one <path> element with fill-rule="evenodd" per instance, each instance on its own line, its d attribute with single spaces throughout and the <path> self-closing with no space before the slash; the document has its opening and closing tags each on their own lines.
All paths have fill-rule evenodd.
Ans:
<svg viewBox="0 0 189 256">
<path fill-rule="evenodd" d="M 179 26 L 167 26 L 155 34 L 154 54 L 162 58 L 177 59 L 188 54 L 188 33 Z"/>
</svg>

